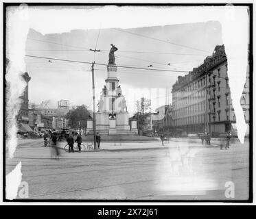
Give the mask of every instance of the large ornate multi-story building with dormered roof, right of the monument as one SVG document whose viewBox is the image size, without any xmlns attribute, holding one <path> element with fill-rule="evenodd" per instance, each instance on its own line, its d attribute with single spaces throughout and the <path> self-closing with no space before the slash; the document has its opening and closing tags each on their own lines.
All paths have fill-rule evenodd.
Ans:
<svg viewBox="0 0 256 219">
<path fill-rule="evenodd" d="M 248 122 L 248 76 L 241 103 Z M 246 96 L 244 98 L 244 96 Z M 224 133 L 231 130 L 235 114 L 231 103 L 224 45 L 216 46 L 204 63 L 172 88 L 173 125 L 185 133 Z"/>
</svg>

